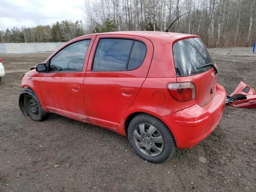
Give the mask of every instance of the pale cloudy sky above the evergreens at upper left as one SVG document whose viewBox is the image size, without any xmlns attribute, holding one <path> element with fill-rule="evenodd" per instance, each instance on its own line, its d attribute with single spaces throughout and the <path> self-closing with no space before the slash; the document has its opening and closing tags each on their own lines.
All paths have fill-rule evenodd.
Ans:
<svg viewBox="0 0 256 192">
<path fill-rule="evenodd" d="M 61 20 L 84 21 L 83 8 L 84 0 L 0 0 L 0 30 Z"/>
</svg>

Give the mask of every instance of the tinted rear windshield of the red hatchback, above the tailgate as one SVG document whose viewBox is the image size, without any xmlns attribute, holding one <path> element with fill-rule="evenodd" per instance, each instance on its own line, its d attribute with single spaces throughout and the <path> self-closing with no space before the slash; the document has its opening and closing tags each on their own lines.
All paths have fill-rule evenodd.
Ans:
<svg viewBox="0 0 256 192">
<path fill-rule="evenodd" d="M 199 68 L 214 61 L 200 38 L 180 40 L 173 45 L 173 58 L 177 77 L 208 71 L 212 66 Z"/>
</svg>

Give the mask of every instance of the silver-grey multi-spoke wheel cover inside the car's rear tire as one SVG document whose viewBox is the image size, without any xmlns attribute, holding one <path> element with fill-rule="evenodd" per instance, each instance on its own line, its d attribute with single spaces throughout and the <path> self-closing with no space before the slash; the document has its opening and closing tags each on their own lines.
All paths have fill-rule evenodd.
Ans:
<svg viewBox="0 0 256 192">
<path fill-rule="evenodd" d="M 133 138 L 138 149 L 147 156 L 157 156 L 164 149 L 162 134 L 151 124 L 139 124 L 134 129 Z"/>
</svg>

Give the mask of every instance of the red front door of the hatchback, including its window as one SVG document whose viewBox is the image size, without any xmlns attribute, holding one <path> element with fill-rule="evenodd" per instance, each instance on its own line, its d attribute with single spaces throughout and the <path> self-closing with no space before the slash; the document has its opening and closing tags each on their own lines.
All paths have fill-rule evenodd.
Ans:
<svg viewBox="0 0 256 192">
<path fill-rule="evenodd" d="M 46 62 L 47 72 L 40 74 L 40 90 L 50 112 L 88 120 L 83 82 L 94 37 L 74 40 Z"/>
</svg>

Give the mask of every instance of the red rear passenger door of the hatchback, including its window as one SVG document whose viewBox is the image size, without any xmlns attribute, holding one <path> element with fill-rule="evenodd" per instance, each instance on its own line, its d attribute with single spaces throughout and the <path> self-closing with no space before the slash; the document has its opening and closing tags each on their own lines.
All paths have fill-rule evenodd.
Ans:
<svg viewBox="0 0 256 192">
<path fill-rule="evenodd" d="M 150 40 L 98 35 L 90 54 L 84 99 L 90 121 L 116 127 L 142 86 L 153 55 Z"/>
</svg>

